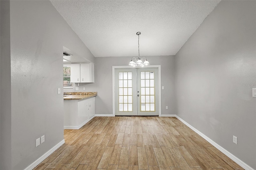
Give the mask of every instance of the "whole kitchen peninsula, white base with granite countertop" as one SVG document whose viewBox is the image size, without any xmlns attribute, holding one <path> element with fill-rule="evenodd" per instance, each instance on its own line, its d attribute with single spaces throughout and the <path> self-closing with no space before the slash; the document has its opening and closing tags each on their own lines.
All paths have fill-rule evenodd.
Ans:
<svg viewBox="0 0 256 170">
<path fill-rule="evenodd" d="M 64 92 L 64 129 L 79 129 L 95 115 L 97 92 Z"/>
</svg>

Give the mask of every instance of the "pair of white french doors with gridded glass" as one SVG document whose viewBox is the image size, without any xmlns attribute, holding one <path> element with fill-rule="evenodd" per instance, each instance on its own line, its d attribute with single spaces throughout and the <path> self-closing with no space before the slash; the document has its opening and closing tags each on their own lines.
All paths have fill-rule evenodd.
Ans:
<svg viewBox="0 0 256 170">
<path fill-rule="evenodd" d="M 115 115 L 159 115 L 158 68 L 115 69 Z"/>
</svg>

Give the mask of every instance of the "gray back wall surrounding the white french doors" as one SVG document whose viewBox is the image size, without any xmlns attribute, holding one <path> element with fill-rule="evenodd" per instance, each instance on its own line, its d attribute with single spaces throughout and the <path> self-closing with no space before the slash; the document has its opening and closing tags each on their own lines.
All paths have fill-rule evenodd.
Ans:
<svg viewBox="0 0 256 170">
<path fill-rule="evenodd" d="M 151 65 L 161 65 L 162 90 L 162 115 L 175 115 L 175 91 L 174 91 L 174 56 L 149 56 Z M 112 66 L 127 66 L 131 57 L 96 57 L 94 65 L 95 83 L 80 83 L 79 91 L 97 91 L 95 98 L 96 114 L 113 114 L 112 109 Z M 78 87 L 77 84 L 74 87 Z M 75 91 L 73 89 L 64 89 Z M 168 110 L 166 110 L 168 106 Z"/>
</svg>

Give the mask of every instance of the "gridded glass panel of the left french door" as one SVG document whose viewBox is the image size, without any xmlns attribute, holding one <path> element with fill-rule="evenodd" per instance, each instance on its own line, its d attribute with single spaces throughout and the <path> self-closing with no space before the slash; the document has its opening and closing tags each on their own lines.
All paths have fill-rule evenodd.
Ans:
<svg viewBox="0 0 256 170">
<path fill-rule="evenodd" d="M 119 94 L 118 94 L 119 95 L 119 111 L 132 112 L 132 72 L 119 72 L 118 77 L 119 77 Z"/>
</svg>

